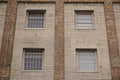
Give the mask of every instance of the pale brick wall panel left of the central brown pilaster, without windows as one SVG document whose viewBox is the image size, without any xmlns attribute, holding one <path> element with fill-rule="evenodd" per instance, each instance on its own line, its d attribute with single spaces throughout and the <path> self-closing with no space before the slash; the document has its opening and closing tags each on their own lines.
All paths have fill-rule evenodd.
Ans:
<svg viewBox="0 0 120 80">
<path fill-rule="evenodd" d="M 13 47 L 10 80 L 53 80 L 54 74 L 54 16 L 52 3 L 19 3 Z M 46 10 L 45 28 L 27 29 L 26 10 Z M 23 70 L 23 48 L 44 48 L 42 71 Z"/>
</svg>

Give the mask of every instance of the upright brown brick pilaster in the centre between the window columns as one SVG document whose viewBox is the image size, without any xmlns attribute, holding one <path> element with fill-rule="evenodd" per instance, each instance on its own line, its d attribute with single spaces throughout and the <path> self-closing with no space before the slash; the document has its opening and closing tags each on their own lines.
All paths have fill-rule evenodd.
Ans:
<svg viewBox="0 0 120 80">
<path fill-rule="evenodd" d="M 55 64 L 54 80 L 64 80 L 64 4 L 56 0 L 55 6 Z"/>
</svg>

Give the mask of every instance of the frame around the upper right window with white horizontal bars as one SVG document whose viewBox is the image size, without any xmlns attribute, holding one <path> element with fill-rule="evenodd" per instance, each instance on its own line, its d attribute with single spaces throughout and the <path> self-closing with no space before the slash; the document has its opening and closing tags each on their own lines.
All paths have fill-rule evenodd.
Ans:
<svg viewBox="0 0 120 80">
<path fill-rule="evenodd" d="M 75 28 L 76 29 L 95 29 L 95 27 L 94 27 L 94 23 L 95 23 L 95 21 L 94 21 L 94 10 L 75 10 L 74 11 L 75 12 Z M 77 26 L 77 19 L 76 19 L 76 17 L 77 17 L 77 13 L 79 13 L 79 12 L 91 12 L 92 13 L 92 26 L 91 27 L 84 27 L 84 26 Z"/>
</svg>

